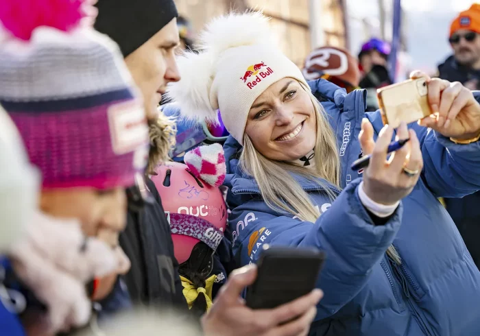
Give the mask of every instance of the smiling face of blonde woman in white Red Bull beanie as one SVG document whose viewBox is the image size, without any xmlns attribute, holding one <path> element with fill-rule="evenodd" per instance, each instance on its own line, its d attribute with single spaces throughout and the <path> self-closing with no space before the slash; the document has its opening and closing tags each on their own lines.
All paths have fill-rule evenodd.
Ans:
<svg viewBox="0 0 480 336">
<path fill-rule="evenodd" d="M 315 108 L 297 80 L 285 77 L 252 104 L 245 134 L 255 149 L 271 160 L 298 160 L 315 147 Z"/>
</svg>

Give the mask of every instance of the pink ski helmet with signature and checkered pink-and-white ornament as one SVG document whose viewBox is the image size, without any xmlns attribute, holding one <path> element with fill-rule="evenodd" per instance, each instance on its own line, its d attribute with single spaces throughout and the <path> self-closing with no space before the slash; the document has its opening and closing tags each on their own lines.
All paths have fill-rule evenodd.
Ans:
<svg viewBox="0 0 480 336">
<path fill-rule="evenodd" d="M 185 163 L 160 165 L 158 175 L 152 176 L 180 264 L 190 258 L 199 241 L 217 250 L 227 222 L 224 195 L 219 189 L 226 172 L 221 145 L 197 147 L 185 155 Z"/>
</svg>

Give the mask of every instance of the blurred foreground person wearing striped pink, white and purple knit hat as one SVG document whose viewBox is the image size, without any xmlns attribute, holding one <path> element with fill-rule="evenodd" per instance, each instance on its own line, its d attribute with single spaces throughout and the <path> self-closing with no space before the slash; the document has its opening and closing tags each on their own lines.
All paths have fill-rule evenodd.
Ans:
<svg viewBox="0 0 480 336">
<path fill-rule="evenodd" d="M 94 274 L 97 277 L 88 286 L 89 298 L 101 301 L 102 312 L 108 313 L 131 306 L 119 280 L 119 274 L 130 268 L 119 247 L 119 233 L 125 228 L 125 188 L 134 184 L 135 173 L 147 164 L 148 129 L 142 99 L 117 45 L 82 25 L 82 5 L 83 1 L 67 0 L 1 3 L 0 104 L 42 176 L 38 207 L 43 216 L 36 220 L 53 217 L 59 219 L 51 219 L 57 226 L 73 222 L 70 226 L 80 235 L 80 242 L 64 240 L 71 242 L 72 250 L 64 244 L 52 246 L 64 248 L 51 252 L 56 260 L 64 257 L 63 263 L 71 267 L 88 267 L 73 258 L 88 250 L 88 239 L 82 235 L 104 241 L 116 254 L 114 269 L 102 276 Z M 54 237 L 55 231 L 44 239 L 52 243 Z M 15 256 L 25 261 L 28 251 L 34 256 L 38 248 L 27 246 Z M 64 324 L 62 315 L 71 313 L 67 302 L 78 298 L 78 293 L 86 295 L 86 287 L 49 283 L 47 276 L 53 276 L 53 270 L 40 265 L 42 255 L 38 253 L 38 262 L 27 265 L 43 269 L 19 267 L 16 272 L 32 289 L 44 289 L 34 293 L 39 304 L 48 307 L 47 313 L 58 319 L 53 323 L 58 328 L 58 323 Z M 69 288 L 75 291 L 69 293 Z M 49 307 L 51 298 L 63 299 L 64 307 Z M 91 302 L 82 302 L 86 309 L 82 316 L 88 319 Z"/>
</svg>

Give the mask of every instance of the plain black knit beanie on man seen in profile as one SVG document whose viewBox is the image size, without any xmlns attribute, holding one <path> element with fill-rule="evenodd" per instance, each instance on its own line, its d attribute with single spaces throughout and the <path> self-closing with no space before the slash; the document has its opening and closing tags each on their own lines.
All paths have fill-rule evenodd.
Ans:
<svg viewBox="0 0 480 336">
<path fill-rule="evenodd" d="M 173 0 L 99 0 L 95 29 L 127 57 L 178 16 Z"/>
</svg>

